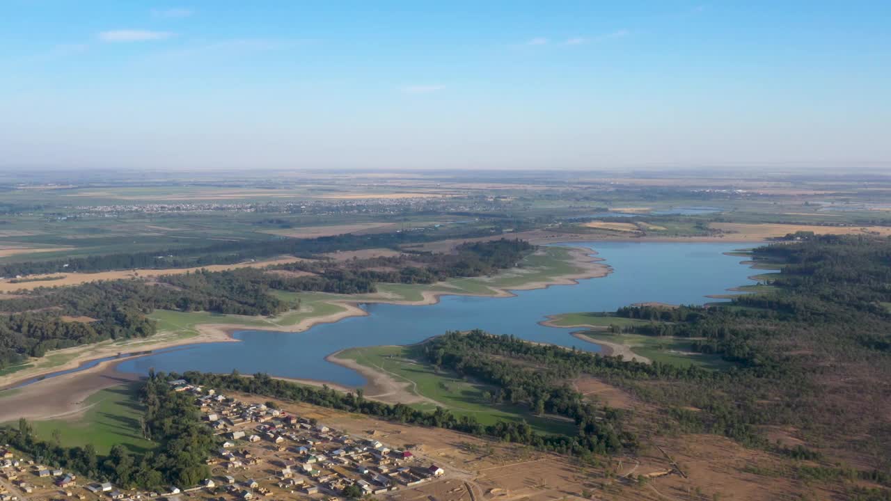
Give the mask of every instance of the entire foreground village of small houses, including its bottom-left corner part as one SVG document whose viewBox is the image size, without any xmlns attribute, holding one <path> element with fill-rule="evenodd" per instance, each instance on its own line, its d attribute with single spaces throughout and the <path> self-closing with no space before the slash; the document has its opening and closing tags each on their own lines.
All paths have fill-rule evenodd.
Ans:
<svg viewBox="0 0 891 501">
<path fill-rule="evenodd" d="M 218 437 L 219 447 L 207 460 L 212 475 L 200 485 L 127 490 L 79 479 L 5 446 L 0 448 L 0 501 L 358 498 L 446 476 L 413 451 L 374 439 L 374 431 L 369 438 L 347 435 L 274 406 L 242 402 L 183 380 L 170 384 L 194 396 L 202 420 Z"/>
</svg>

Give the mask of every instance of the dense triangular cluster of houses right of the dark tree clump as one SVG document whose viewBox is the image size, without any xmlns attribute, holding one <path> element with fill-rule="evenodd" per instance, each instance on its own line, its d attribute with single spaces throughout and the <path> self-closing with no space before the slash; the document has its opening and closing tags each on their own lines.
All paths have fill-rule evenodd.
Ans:
<svg viewBox="0 0 891 501">
<path fill-rule="evenodd" d="M 445 471 L 370 437 L 348 435 L 315 419 L 242 402 L 182 380 L 176 390 L 196 397 L 203 419 L 224 439 L 208 460 L 216 485 L 236 498 L 286 494 L 343 497 L 381 494 L 441 478 Z M 207 480 L 206 480 L 207 481 Z M 208 487 L 208 486 L 205 486 Z"/>
</svg>

